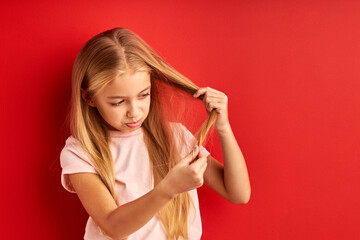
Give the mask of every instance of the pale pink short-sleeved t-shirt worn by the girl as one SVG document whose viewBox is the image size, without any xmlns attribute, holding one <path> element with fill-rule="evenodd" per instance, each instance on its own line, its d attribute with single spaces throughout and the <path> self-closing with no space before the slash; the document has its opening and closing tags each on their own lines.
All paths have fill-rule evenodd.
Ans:
<svg viewBox="0 0 360 240">
<path fill-rule="evenodd" d="M 181 157 L 185 157 L 191 151 L 193 135 L 181 124 L 172 123 L 175 131 L 184 135 L 186 146 L 179 146 Z M 150 172 L 150 160 L 144 142 L 142 129 L 123 133 L 111 131 L 110 150 L 114 160 L 115 169 L 115 193 L 117 205 L 135 200 L 153 188 L 152 174 Z M 178 142 L 179 145 L 179 142 Z M 209 152 L 204 149 L 206 156 Z M 66 140 L 65 147 L 60 154 L 62 167 L 61 183 L 69 192 L 75 192 L 67 174 L 89 172 L 97 173 L 93 164 L 82 150 L 80 143 L 73 137 Z M 202 227 L 199 210 L 199 201 L 196 189 L 189 191 L 194 207 L 190 208 L 188 218 L 189 239 L 201 238 Z M 85 240 L 108 240 L 98 229 L 95 221 L 89 217 L 85 228 Z M 161 221 L 155 215 L 138 231 L 131 234 L 128 240 L 166 240 L 166 232 L 163 230 Z"/>
</svg>

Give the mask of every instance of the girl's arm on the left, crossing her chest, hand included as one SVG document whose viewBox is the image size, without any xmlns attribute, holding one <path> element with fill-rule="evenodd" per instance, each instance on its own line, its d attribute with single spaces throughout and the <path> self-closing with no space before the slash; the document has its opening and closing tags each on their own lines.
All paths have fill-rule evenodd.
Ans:
<svg viewBox="0 0 360 240">
<path fill-rule="evenodd" d="M 206 158 L 191 163 L 198 152 L 196 149 L 182 159 L 153 190 L 121 206 L 116 205 L 97 174 L 76 173 L 69 178 L 85 210 L 101 229 L 113 239 L 123 239 L 144 226 L 179 193 L 202 185 Z"/>
</svg>

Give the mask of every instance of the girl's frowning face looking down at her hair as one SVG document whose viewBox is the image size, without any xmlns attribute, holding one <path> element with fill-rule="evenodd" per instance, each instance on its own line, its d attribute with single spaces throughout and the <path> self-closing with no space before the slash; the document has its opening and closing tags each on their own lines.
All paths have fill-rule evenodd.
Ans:
<svg viewBox="0 0 360 240">
<path fill-rule="evenodd" d="M 139 129 L 150 109 L 150 74 L 126 72 L 106 85 L 90 103 L 107 122 L 109 130 Z"/>
</svg>

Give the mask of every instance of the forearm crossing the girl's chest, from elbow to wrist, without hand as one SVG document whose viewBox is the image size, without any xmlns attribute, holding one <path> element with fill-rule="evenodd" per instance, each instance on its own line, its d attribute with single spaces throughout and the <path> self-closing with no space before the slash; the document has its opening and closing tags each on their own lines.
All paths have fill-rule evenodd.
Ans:
<svg viewBox="0 0 360 240">
<path fill-rule="evenodd" d="M 107 219 L 107 228 L 114 239 L 123 239 L 144 226 L 159 212 L 172 197 L 165 185 L 159 183 L 144 196 L 123 204 L 115 209 Z"/>
</svg>

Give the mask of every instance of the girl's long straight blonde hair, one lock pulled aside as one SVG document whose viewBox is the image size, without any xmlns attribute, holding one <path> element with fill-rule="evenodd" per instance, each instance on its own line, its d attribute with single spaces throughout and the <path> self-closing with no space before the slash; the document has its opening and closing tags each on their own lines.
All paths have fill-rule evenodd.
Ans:
<svg viewBox="0 0 360 240">
<path fill-rule="evenodd" d="M 126 71 L 148 71 L 151 76 L 151 104 L 143 123 L 144 140 L 152 163 L 154 185 L 158 184 L 180 159 L 175 137 L 161 107 L 159 82 L 194 94 L 199 88 L 159 57 L 139 36 L 115 28 L 92 37 L 81 48 L 73 66 L 70 112 L 71 134 L 81 143 L 96 170 L 116 200 L 114 164 L 106 124 L 89 101 L 116 76 Z M 195 135 L 201 145 L 214 123 L 215 111 Z M 179 194 L 159 213 L 169 239 L 188 238 L 191 197 Z"/>
</svg>

